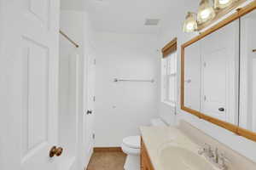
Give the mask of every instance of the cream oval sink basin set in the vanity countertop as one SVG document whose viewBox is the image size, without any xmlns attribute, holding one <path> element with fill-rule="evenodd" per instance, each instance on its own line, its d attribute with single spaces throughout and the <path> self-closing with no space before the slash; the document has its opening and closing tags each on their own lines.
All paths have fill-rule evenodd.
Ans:
<svg viewBox="0 0 256 170">
<path fill-rule="evenodd" d="M 177 144 L 160 148 L 159 163 L 163 170 L 216 170 L 203 156 Z"/>
</svg>

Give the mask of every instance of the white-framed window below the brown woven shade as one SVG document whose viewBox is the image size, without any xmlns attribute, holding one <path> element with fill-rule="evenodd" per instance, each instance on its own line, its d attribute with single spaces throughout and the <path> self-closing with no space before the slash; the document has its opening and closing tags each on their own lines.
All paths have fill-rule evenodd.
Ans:
<svg viewBox="0 0 256 170">
<path fill-rule="evenodd" d="M 176 106 L 177 103 L 177 52 L 168 54 L 161 61 L 162 102 Z"/>
</svg>

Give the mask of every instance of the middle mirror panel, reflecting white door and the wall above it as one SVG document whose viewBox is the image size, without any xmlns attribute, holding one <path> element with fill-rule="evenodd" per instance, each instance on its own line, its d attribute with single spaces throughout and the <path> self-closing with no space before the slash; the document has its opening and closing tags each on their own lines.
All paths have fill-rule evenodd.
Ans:
<svg viewBox="0 0 256 170">
<path fill-rule="evenodd" d="M 201 110 L 231 123 L 237 121 L 238 31 L 234 21 L 201 41 Z"/>
</svg>

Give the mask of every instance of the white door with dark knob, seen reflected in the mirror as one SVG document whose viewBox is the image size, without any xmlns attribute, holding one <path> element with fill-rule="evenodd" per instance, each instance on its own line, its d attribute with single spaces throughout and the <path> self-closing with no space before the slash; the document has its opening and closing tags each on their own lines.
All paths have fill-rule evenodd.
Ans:
<svg viewBox="0 0 256 170">
<path fill-rule="evenodd" d="M 222 120 L 225 120 L 226 116 L 226 55 L 224 49 L 204 54 L 203 63 L 203 112 Z"/>
</svg>

